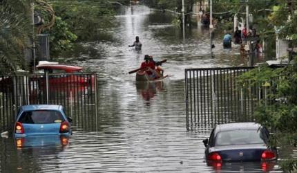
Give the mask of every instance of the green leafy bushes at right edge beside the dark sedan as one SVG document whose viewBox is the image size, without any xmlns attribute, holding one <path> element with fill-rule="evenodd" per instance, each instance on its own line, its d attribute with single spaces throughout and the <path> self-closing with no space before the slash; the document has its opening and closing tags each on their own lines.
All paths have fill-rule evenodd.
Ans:
<svg viewBox="0 0 297 173">
<path fill-rule="evenodd" d="M 295 57 L 297 58 L 297 57 Z M 276 131 L 272 146 L 297 147 L 297 61 L 285 68 L 271 69 L 260 67 L 241 75 L 238 84 L 247 89 L 259 86 L 262 90 L 269 88 L 268 98 L 262 98 L 254 118 L 266 127 Z M 267 83 L 269 83 L 267 85 Z M 295 167 L 295 168 L 294 168 Z M 282 168 L 293 171 L 297 167 L 296 158 L 284 158 Z"/>
</svg>

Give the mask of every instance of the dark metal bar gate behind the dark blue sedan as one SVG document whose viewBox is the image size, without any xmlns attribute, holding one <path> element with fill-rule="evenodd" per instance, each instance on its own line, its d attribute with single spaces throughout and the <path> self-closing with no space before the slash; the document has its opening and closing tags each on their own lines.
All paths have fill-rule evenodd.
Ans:
<svg viewBox="0 0 297 173">
<path fill-rule="evenodd" d="M 258 86 L 241 89 L 237 84 L 238 75 L 250 69 L 253 67 L 185 69 L 187 123 L 251 120 L 263 91 Z"/>
</svg>

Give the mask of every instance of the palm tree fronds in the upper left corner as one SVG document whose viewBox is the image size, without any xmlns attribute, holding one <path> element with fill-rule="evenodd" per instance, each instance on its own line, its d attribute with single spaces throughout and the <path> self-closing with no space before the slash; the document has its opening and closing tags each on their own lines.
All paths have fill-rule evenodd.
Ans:
<svg viewBox="0 0 297 173">
<path fill-rule="evenodd" d="M 14 4 L 14 6 L 12 6 Z M 17 6 L 15 6 L 17 4 Z M 27 47 L 30 32 L 28 3 L 19 0 L 0 1 L 0 73 L 14 73 L 25 69 L 24 49 Z M 30 7 L 30 6 L 29 6 Z"/>
</svg>

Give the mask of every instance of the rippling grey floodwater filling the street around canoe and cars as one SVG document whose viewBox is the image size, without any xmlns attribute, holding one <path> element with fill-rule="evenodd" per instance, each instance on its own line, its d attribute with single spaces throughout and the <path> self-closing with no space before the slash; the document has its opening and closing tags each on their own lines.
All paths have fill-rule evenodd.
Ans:
<svg viewBox="0 0 297 173">
<path fill-rule="evenodd" d="M 210 53 L 208 28 L 193 26 L 183 38 L 171 14 L 145 6 L 122 8 L 116 20 L 111 39 L 84 43 L 66 60 L 97 72 L 98 117 L 78 118 L 70 138 L 1 138 L 1 172 L 280 172 L 266 163 L 207 165 L 202 140 L 215 120 L 187 130 L 184 69 L 245 66 L 238 47 L 224 50 L 213 35 Z M 137 35 L 141 52 L 128 48 Z M 163 82 L 137 84 L 128 74 L 146 54 L 167 60 Z"/>
</svg>

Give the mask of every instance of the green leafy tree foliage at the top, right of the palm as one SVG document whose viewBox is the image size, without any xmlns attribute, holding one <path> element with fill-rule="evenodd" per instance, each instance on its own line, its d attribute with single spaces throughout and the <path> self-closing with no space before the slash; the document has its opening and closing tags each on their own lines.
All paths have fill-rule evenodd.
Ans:
<svg viewBox="0 0 297 173">
<path fill-rule="evenodd" d="M 55 14 L 77 35 L 77 41 L 98 39 L 98 35 L 114 26 L 112 3 L 99 1 L 50 1 Z"/>
</svg>

